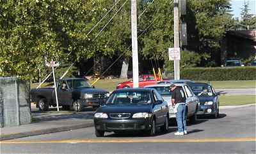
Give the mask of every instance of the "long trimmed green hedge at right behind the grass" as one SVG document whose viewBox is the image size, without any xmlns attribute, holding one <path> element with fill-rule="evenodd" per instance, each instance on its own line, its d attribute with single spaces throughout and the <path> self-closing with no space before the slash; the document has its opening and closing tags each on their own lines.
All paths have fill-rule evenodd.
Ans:
<svg viewBox="0 0 256 154">
<path fill-rule="evenodd" d="M 256 80 L 256 67 L 193 67 L 182 69 L 180 78 L 196 81 Z"/>
</svg>

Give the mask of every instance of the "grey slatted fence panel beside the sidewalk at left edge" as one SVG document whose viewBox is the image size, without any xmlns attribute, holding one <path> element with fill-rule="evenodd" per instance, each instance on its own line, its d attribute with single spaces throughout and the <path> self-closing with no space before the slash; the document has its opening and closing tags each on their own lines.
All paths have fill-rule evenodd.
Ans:
<svg viewBox="0 0 256 154">
<path fill-rule="evenodd" d="M 0 77 L 0 127 L 31 123 L 29 82 Z"/>
</svg>

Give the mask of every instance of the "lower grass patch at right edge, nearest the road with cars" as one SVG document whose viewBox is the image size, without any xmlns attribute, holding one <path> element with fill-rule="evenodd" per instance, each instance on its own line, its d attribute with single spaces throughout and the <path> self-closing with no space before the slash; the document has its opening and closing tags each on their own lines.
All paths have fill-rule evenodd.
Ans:
<svg viewBox="0 0 256 154">
<path fill-rule="evenodd" d="M 220 106 L 255 104 L 256 95 L 220 95 Z"/>
</svg>

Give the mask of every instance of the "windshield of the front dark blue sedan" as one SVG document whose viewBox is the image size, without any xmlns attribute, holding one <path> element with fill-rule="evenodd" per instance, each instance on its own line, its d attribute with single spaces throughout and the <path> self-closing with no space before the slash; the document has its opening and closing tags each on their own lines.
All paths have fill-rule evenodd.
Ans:
<svg viewBox="0 0 256 154">
<path fill-rule="evenodd" d="M 115 92 L 112 94 L 106 104 L 150 104 L 150 92 Z"/>
</svg>

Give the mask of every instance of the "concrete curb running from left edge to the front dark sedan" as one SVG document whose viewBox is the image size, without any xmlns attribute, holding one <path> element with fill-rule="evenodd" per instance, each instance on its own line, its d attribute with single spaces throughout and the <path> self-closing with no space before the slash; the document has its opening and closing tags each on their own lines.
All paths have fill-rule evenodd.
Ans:
<svg viewBox="0 0 256 154">
<path fill-rule="evenodd" d="M 88 122 L 88 123 L 83 123 L 79 125 L 70 125 L 70 126 L 64 126 L 64 127 L 56 127 L 56 128 L 51 128 L 51 129 L 43 129 L 43 130 L 34 130 L 30 132 L 20 132 L 17 134 L 7 134 L 0 136 L 0 141 L 8 140 L 8 139 L 17 139 L 21 137 L 28 137 L 28 136 L 38 136 L 42 134 L 50 134 L 54 132 L 63 132 L 67 130 L 72 130 L 72 129 L 82 129 L 86 127 L 93 127 L 93 122 Z"/>
</svg>

